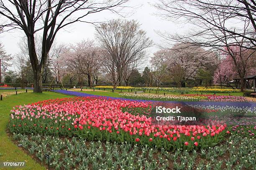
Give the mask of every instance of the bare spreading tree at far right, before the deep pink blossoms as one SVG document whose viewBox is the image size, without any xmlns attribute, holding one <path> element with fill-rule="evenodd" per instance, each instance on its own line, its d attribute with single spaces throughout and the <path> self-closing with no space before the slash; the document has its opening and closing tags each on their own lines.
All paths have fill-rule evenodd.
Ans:
<svg viewBox="0 0 256 170">
<path fill-rule="evenodd" d="M 254 0 L 159 0 L 155 7 L 164 19 L 185 21 L 195 26 L 185 35 L 159 32 L 167 44 L 179 42 L 230 55 L 241 79 L 241 91 L 244 90 L 247 62 L 256 51 Z M 237 49 L 240 54 L 251 54 L 242 57 L 244 55 L 238 55 Z M 239 59 L 238 63 L 238 58 L 243 60 Z"/>
</svg>

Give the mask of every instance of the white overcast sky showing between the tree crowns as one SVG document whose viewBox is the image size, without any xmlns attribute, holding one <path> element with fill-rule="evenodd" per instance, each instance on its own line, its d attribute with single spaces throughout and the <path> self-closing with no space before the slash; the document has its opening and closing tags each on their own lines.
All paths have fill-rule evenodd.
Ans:
<svg viewBox="0 0 256 170">
<path fill-rule="evenodd" d="M 151 6 L 157 0 L 131 0 L 127 3 L 127 6 L 136 6 L 136 8 L 126 8 L 123 10 L 126 13 L 130 13 L 126 16 L 128 20 L 137 20 L 141 24 L 141 29 L 146 30 L 147 36 L 154 41 L 155 44 L 161 43 L 161 37 L 156 34 L 156 30 L 162 32 L 168 31 L 171 33 L 181 33 L 185 29 L 175 25 L 171 21 L 161 20 L 161 18 L 153 15 L 157 13 L 157 10 Z M 88 21 L 107 21 L 115 18 L 121 18 L 117 14 L 110 13 L 109 11 L 100 12 L 92 15 L 88 15 Z M 184 26 L 184 25 L 183 25 Z M 75 43 L 82 39 L 94 39 L 95 26 L 88 23 L 75 23 L 65 30 L 61 30 L 56 37 L 57 43 Z M 18 42 L 22 38 L 26 38 L 22 31 L 14 30 L 12 32 L 5 32 L 0 35 L 0 41 L 4 44 L 5 50 L 8 54 L 14 55 L 18 53 L 19 47 Z M 159 50 L 157 45 L 148 48 L 148 60 L 154 52 Z M 148 65 L 148 62 L 147 64 Z"/>
</svg>

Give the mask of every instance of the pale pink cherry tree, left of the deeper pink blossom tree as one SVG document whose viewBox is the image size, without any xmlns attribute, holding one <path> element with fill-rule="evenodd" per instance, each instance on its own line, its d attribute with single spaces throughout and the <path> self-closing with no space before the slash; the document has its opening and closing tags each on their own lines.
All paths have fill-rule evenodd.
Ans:
<svg viewBox="0 0 256 170">
<path fill-rule="evenodd" d="M 156 52 L 151 58 L 151 63 L 166 65 L 165 74 L 171 75 L 178 85 L 185 87 L 187 80 L 194 80 L 204 65 L 213 62 L 213 55 L 201 47 L 177 43 L 169 49 Z"/>
</svg>

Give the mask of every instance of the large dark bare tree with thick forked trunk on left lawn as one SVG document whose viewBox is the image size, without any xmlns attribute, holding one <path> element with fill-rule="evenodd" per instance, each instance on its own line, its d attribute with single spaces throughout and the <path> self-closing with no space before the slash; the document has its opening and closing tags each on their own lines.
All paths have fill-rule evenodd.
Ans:
<svg viewBox="0 0 256 170">
<path fill-rule="evenodd" d="M 91 23 L 84 18 L 103 10 L 115 11 L 128 0 L 0 0 L 0 15 L 6 22 L 0 28 L 6 31 L 23 30 L 28 41 L 28 52 L 34 75 L 34 92 L 42 92 L 42 75 L 48 53 L 57 32 L 75 22 Z M 35 48 L 35 34 L 42 35 L 41 60 Z"/>
</svg>

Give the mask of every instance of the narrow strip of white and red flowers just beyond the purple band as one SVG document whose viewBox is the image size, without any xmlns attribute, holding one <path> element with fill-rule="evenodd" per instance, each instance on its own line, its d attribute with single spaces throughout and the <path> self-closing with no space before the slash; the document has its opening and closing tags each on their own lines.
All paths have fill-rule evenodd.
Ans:
<svg viewBox="0 0 256 170">
<path fill-rule="evenodd" d="M 228 95 L 155 95 L 155 94 L 134 94 L 121 93 L 120 97 L 138 100 L 159 100 L 159 101 L 218 101 L 218 102 L 249 102 L 246 97 Z"/>
</svg>

